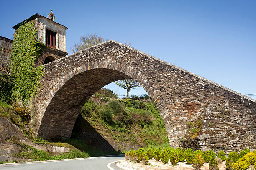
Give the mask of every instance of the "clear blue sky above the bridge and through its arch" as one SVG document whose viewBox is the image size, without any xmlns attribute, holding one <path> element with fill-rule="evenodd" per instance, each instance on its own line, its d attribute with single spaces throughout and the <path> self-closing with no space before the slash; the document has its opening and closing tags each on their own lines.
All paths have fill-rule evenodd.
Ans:
<svg viewBox="0 0 256 170">
<path fill-rule="evenodd" d="M 97 33 L 242 94 L 256 93 L 255 0 L 129 0 L 1 2 L 0 35 L 31 15 L 67 26 L 67 52 L 81 35 Z M 108 85 L 118 95 L 125 90 Z M 131 95 L 145 91 L 131 90 Z M 256 99 L 256 95 L 250 97 Z"/>
</svg>

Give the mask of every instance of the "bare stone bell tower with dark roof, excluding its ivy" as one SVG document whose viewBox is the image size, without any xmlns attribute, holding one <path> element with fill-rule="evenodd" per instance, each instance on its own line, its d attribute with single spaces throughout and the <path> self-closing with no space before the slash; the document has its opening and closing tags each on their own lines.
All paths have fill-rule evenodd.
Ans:
<svg viewBox="0 0 256 170">
<path fill-rule="evenodd" d="M 51 13 L 48 14 L 47 18 L 42 15 L 35 14 L 23 22 L 28 20 L 34 20 L 35 27 L 38 30 L 36 38 L 39 42 L 46 45 L 42 55 L 38 56 L 38 59 L 35 61 L 36 67 L 65 57 L 68 54 L 66 52 L 66 30 L 68 28 L 55 22 L 55 15 L 52 13 L 52 10 Z M 13 26 L 15 32 L 21 23 Z"/>
</svg>

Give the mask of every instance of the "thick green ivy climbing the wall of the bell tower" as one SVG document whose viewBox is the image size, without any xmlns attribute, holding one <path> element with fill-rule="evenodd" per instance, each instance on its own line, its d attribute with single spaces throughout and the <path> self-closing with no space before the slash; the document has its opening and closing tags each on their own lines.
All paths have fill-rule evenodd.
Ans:
<svg viewBox="0 0 256 170">
<path fill-rule="evenodd" d="M 28 106 L 39 89 L 44 66 L 34 66 L 34 61 L 43 52 L 44 45 L 36 39 L 34 20 L 25 20 L 16 30 L 12 49 L 12 72 L 14 75 L 13 100 Z"/>
</svg>

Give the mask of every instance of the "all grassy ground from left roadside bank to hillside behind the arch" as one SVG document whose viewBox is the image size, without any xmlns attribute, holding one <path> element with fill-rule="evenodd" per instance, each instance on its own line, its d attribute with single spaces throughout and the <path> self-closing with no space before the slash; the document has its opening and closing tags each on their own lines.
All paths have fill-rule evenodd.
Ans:
<svg viewBox="0 0 256 170">
<path fill-rule="evenodd" d="M 143 103 L 137 100 L 106 99 L 106 102 L 96 104 L 89 101 L 84 105 L 81 114 L 77 118 L 72 138 L 57 143 L 31 136 L 30 131 L 26 128 L 28 126 L 26 124 L 27 117 L 22 116 L 26 110 L 17 111 L 17 108 L 17 106 L 6 105 L 0 101 L 0 116 L 18 125 L 28 140 L 37 145 L 61 146 L 71 149 L 70 153 L 56 155 L 56 153 L 37 150 L 27 144 L 20 143 L 17 138 L 11 137 L 8 141 L 20 147 L 20 152 L 13 154 L 13 156 L 20 158 L 32 160 L 82 158 L 118 154 L 120 151 L 115 151 L 117 150 L 116 148 L 122 151 L 130 150 L 133 146 L 131 144 L 137 144 L 138 147 L 148 147 L 168 143 L 163 121 L 154 103 Z M 95 136 L 95 134 L 98 134 L 110 148 L 113 147 L 115 150 L 100 148 L 98 147 L 99 143 L 94 143 L 93 140 L 91 143 L 84 141 L 81 138 L 83 135 L 81 130 L 88 129 L 88 127 L 91 130 L 90 135 Z M 126 146 L 130 147 L 127 148 Z"/>
</svg>

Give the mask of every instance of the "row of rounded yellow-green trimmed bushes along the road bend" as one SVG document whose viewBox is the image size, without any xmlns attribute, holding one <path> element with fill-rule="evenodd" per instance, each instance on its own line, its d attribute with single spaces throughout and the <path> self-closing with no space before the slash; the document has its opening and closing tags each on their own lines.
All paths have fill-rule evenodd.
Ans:
<svg viewBox="0 0 256 170">
<path fill-rule="evenodd" d="M 204 163 L 209 163 L 210 170 L 218 170 L 218 164 L 226 160 L 226 155 L 223 151 L 220 151 L 216 155 L 213 150 L 204 151 L 196 150 L 193 152 L 191 148 L 187 150 L 182 150 L 182 148 L 148 148 L 145 152 L 143 148 L 140 148 L 136 151 L 130 150 L 125 154 L 125 160 L 131 160 L 135 163 L 142 162 L 143 165 L 148 163 L 148 160 L 155 159 L 162 163 L 170 163 L 172 165 L 177 165 L 178 162 L 186 162 L 188 164 L 193 164 L 195 170 L 199 170 Z M 228 170 L 246 170 L 249 165 L 255 166 L 256 161 L 256 151 L 251 152 L 248 149 L 242 150 L 240 154 L 237 152 L 231 152 L 228 155 L 226 161 L 226 167 Z"/>
</svg>

